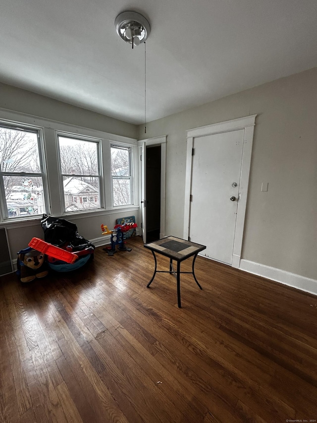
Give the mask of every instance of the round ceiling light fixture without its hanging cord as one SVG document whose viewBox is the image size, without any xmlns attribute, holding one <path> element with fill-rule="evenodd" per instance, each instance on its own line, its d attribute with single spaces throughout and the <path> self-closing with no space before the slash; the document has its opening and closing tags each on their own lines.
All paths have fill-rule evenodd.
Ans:
<svg viewBox="0 0 317 423">
<path fill-rule="evenodd" d="M 138 46 L 141 43 L 144 43 L 148 38 L 151 28 L 148 20 L 142 16 L 140 13 L 133 11 L 126 11 L 120 13 L 114 21 L 114 25 L 117 31 L 117 34 L 124 40 L 126 43 Z M 139 39 L 135 42 L 135 39 Z"/>
</svg>

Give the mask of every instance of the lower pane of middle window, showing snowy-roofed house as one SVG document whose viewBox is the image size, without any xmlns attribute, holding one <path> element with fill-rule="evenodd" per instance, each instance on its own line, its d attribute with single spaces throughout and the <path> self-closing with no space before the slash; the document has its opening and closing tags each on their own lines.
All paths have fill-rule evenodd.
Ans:
<svg viewBox="0 0 317 423">
<path fill-rule="evenodd" d="M 99 178 L 63 177 L 65 211 L 100 208 Z"/>
</svg>

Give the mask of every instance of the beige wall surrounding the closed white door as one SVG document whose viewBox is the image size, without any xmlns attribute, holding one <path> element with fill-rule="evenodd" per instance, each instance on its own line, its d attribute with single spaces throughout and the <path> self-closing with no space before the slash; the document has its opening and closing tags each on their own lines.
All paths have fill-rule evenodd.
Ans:
<svg viewBox="0 0 317 423">
<path fill-rule="evenodd" d="M 317 68 L 147 123 L 147 138 L 167 135 L 165 234 L 183 234 L 186 130 L 255 114 L 242 257 L 316 281 Z"/>
</svg>

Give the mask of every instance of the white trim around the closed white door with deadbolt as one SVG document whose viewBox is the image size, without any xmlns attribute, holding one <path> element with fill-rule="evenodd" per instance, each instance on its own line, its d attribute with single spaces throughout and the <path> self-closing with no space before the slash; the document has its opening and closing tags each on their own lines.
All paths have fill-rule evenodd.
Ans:
<svg viewBox="0 0 317 423">
<path fill-rule="evenodd" d="M 213 123 L 211 125 L 201 126 L 198 128 L 187 130 L 187 153 L 186 153 L 186 180 L 185 180 L 185 207 L 184 207 L 184 230 L 183 238 L 188 239 L 190 227 L 190 194 L 192 183 L 192 169 L 193 156 L 192 149 L 194 146 L 194 138 L 205 135 L 213 135 L 217 133 L 229 132 L 238 129 L 244 129 L 243 151 L 241 162 L 241 180 L 239 186 L 239 201 L 237 209 L 236 229 L 233 243 L 232 267 L 239 268 L 243 231 L 247 207 L 252 144 L 254 136 L 254 126 L 257 115 L 246 116 L 244 118 L 233 119 L 231 121 L 224 121 Z"/>
</svg>

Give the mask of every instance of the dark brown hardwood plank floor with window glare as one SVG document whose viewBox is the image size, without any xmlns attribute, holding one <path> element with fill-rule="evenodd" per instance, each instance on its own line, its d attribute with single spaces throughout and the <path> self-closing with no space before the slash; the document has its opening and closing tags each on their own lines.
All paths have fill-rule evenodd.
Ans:
<svg viewBox="0 0 317 423">
<path fill-rule="evenodd" d="M 175 278 L 147 289 L 152 253 L 128 245 L 0 278 L 1 423 L 316 422 L 317 297 L 198 257 L 203 290 L 181 275 L 178 308 Z"/>
</svg>

